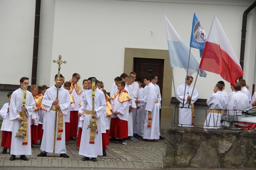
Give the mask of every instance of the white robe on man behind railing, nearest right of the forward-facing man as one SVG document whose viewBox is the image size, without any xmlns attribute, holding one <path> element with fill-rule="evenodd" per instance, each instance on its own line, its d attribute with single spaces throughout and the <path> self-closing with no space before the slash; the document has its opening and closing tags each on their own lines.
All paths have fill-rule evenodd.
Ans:
<svg viewBox="0 0 256 170">
<path fill-rule="evenodd" d="M 216 109 L 219 111 L 218 113 L 213 113 L 213 112 L 208 113 L 206 120 L 204 121 L 203 128 L 217 129 L 221 126 L 221 118 L 222 118 L 221 110 L 225 109 L 226 107 L 226 98 L 221 91 L 217 91 L 207 99 L 207 105 L 210 106 L 210 109 Z"/>
</svg>

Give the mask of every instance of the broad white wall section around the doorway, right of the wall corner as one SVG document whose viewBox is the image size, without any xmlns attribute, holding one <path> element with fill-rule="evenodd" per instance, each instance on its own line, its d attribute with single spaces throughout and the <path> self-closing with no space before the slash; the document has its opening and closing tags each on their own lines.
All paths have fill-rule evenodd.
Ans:
<svg viewBox="0 0 256 170">
<path fill-rule="evenodd" d="M 239 59 L 242 14 L 248 8 L 247 5 L 252 3 L 116 0 L 75 2 L 56 0 L 52 60 L 62 55 L 63 60 L 68 62 L 61 67 L 66 80 L 75 72 L 81 75 L 81 80 L 95 76 L 104 82 L 107 91 L 111 90 L 113 79 L 123 72 L 125 47 L 168 49 L 164 13 L 188 47 L 194 12 L 207 33 L 213 14 L 216 14 Z M 191 52 L 200 62 L 198 49 L 191 49 Z M 52 63 L 52 76 L 56 74 L 56 68 L 56 64 Z M 184 69 L 174 68 L 176 87 L 184 82 L 185 74 Z M 209 72 L 207 78 L 199 77 L 196 84 L 197 89 L 200 89 L 199 98 L 208 98 L 219 80 L 223 80 L 221 76 Z M 51 84 L 53 83 L 51 79 Z M 227 91 L 231 91 L 229 83 L 226 84 Z"/>
</svg>

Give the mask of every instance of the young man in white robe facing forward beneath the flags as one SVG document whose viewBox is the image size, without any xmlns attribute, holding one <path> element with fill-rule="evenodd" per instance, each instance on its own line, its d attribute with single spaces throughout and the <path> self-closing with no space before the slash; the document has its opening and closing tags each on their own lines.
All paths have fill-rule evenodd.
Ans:
<svg viewBox="0 0 256 170">
<path fill-rule="evenodd" d="M 192 86 L 193 77 L 187 76 L 186 84 L 182 84 L 177 88 L 176 98 L 180 101 L 179 108 L 179 126 L 193 127 L 194 118 L 195 118 L 195 109 L 194 103 L 197 101 L 198 92 L 197 89 L 194 89 L 193 95 L 191 97 L 194 86 Z M 185 88 L 186 85 L 186 88 Z M 185 100 L 184 99 L 184 90 L 185 90 Z M 190 105 L 189 105 L 190 101 Z M 188 108 L 189 105 L 189 108 Z M 183 106 L 183 108 L 181 108 Z"/>
</svg>

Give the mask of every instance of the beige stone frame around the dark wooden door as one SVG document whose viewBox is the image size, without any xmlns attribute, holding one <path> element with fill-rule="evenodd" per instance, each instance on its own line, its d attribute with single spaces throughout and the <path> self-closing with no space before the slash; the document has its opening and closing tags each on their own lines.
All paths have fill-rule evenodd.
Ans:
<svg viewBox="0 0 256 170">
<path fill-rule="evenodd" d="M 124 73 L 129 74 L 134 71 L 134 58 L 164 59 L 163 68 L 163 89 L 162 89 L 162 108 L 160 130 L 165 130 L 172 126 L 172 74 L 168 50 L 125 48 Z"/>
</svg>

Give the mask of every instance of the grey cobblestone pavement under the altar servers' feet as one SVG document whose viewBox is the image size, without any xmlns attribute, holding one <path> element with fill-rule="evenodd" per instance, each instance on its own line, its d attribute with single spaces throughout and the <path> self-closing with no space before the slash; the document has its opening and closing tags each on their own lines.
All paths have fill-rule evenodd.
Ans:
<svg viewBox="0 0 256 170">
<path fill-rule="evenodd" d="M 2 140 L 2 131 L 0 131 Z M 47 153 L 47 157 L 37 157 L 40 144 L 33 145 L 32 155 L 26 155 L 29 159 L 24 161 L 16 156 L 16 160 L 10 161 L 9 150 L 2 154 L 0 150 L 0 169 L 3 167 L 52 167 L 52 168 L 110 168 L 110 169 L 162 169 L 164 140 L 147 142 L 142 139 L 138 141 L 127 140 L 127 145 L 120 142 L 108 146 L 107 156 L 97 157 L 97 162 L 82 161 L 76 141 L 66 142 L 69 158 L 61 158 L 59 154 Z"/>
</svg>

